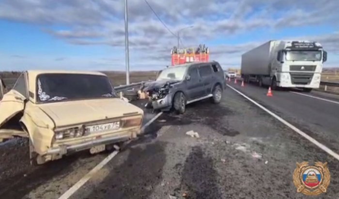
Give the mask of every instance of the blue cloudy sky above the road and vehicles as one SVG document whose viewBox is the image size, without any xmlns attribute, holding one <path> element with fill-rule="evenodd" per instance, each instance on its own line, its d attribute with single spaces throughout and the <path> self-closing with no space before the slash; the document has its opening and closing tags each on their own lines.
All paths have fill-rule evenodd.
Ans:
<svg viewBox="0 0 339 199">
<path fill-rule="evenodd" d="M 170 65 L 181 28 L 181 46 L 205 44 L 224 69 L 284 39 L 317 41 L 324 67 L 339 66 L 338 0 L 147 1 L 170 31 L 145 0 L 128 0 L 131 71 Z M 0 0 L 0 71 L 123 71 L 124 45 L 124 0 Z"/>
</svg>

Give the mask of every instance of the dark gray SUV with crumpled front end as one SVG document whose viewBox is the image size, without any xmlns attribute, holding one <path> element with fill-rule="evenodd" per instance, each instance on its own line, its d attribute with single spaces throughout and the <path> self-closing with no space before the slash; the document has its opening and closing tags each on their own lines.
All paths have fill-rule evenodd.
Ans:
<svg viewBox="0 0 339 199">
<path fill-rule="evenodd" d="M 172 66 L 161 71 L 156 81 L 145 84 L 142 91 L 149 95 L 149 106 L 185 113 L 186 104 L 210 98 L 219 103 L 226 88 L 225 74 L 216 61 L 194 62 Z"/>
</svg>

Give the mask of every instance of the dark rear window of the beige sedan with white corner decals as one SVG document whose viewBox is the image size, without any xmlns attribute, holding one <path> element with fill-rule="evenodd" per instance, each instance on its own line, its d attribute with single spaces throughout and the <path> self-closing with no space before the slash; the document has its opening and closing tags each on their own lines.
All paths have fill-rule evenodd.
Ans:
<svg viewBox="0 0 339 199">
<path fill-rule="evenodd" d="M 91 74 L 41 74 L 37 78 L 37 101 L 117 97 L 107 76 Z"/>
</svg>

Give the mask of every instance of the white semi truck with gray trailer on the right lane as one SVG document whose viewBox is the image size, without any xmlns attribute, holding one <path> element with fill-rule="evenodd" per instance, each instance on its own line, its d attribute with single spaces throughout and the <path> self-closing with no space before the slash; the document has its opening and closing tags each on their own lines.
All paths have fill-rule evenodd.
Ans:
<svg viewBox="0 0 339 199">
<path fill-rule="evenodd" d="M 320 43 L 309 41 L 269 41 L 241 57 L 241 76 L 260 86 L 319 88 L 327 52 Z"/>
</svg>

